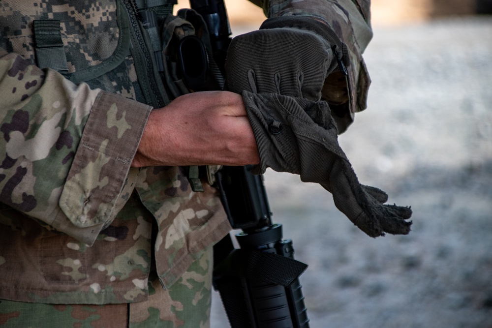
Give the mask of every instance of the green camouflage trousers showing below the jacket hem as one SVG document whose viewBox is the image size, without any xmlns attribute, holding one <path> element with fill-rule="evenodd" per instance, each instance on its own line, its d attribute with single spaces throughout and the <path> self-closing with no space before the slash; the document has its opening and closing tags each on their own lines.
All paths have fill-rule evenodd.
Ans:
<svg viewBox="0 0 492 328">
<path fill-rule="evenodd" d="M 207 328 L 212 302 L 212 262 L 210 248 L 168 290 L 155 280 L 144 302 L 59 305 L 1 300 L 0 327 Z"/>
</svg>

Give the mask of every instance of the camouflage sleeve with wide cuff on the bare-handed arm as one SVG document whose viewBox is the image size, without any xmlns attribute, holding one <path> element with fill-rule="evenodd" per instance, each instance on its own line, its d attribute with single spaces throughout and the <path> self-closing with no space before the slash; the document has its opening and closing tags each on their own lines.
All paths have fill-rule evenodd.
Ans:
<svg viewBox="0 0 492 328">
<path fill-rule="evenodd" d="M 1 48 L 0 94 L 0 202 L 91 245 L 131 191 L 152 108 Z"/>
</svg>

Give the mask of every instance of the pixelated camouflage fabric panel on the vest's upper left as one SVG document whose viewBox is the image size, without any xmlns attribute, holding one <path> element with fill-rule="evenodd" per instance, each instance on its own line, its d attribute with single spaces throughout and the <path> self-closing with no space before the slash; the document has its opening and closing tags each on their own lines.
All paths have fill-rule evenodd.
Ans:
<svg viewBox="0 0 492 328">
<path fill-rule="evenodd" d="M 67 59 L 70 81 L 87 81 L 92 89 L 102 88 L 135 99 L 135 72 L 105 74 L 115 69 L 128 55 L 129 26 L 124 10 L 115 0 L 99 1 L 2 1 L 0 26 L 8 26 L 2 33 L 1 46 L 9 53 L 22 54 L 35 63 L 32 21 L 54 19 L 61 22 L 62 41 Z M 131 62 L 123 67 L 132 68 Z M 130 83 L 128 83 L 130 82 Z M 110 88 L 108 88 L 110 87 Z"/>
</svg>

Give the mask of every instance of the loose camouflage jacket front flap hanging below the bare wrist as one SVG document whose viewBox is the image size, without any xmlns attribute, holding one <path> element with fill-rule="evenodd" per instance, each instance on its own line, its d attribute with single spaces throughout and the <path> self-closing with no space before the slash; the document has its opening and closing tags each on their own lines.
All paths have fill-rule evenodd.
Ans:
<svg viewBox="0 0 492 328">
<path fill-rule="evenodd" d="M 177 167 L 146 168 L 135 187 L 157 222 L 155 264 L 165 286 L 201 257 L 210 239 L 218 241 L 231 230 L 215 189 L 203 183 L 204 192 L 192 192 L 184 173 Z"/>
</svg>

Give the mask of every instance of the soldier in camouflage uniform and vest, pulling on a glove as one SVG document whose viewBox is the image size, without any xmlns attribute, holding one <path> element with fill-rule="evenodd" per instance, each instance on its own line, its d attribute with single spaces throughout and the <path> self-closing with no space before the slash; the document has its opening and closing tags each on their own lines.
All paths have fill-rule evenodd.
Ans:
<svg viewBox="0 0 492 328">
<path fill-rule="evenodd" d="M 272 91 L 243 86 L 253 51 L 238 54 L 247 47 L 238 41 L 227 73 L 238 93 L 189 93 L 173 47 L 184 35 L 206 37 L 194 12 L 172 15 L 174 2 L 1 1 L 0 325 L 210 325 L 211 247 L 230 230 L 214 172 L 275 167 L 238 94 Z M 277 90 L 328 101 L 335 136 L 343 132 L 366 107 L 369 1 L 252 2 L 269 18 L 265 30 L 319 41 L 287 44 L 298 49 L 292 60 L 331 56 L 314 80 L 306 74 L 309 90 L 291 94 L 280 82 Z M 142 24 L 147 12 L 158 29 Z M 275 60 L 277 46 L 265 58 Z M 198 176 L 198 165 L 207 174 Z M 347 215 L 367 228 L 365 214 Z M 369 235 L 408 232 L 370 219 Z"/>
</svg>

